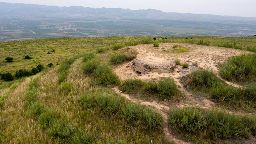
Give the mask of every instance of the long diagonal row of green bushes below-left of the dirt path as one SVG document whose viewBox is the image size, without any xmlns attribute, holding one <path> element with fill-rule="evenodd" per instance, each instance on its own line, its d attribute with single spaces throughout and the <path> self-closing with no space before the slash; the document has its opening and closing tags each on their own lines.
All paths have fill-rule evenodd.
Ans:
<svg viewBox="0 0 256 144">
<path fill-rule="evenodd" d="M 98 108 L 107 115 L 124 118 L 127 122 L 145 130 L 161 130 L 163 127 L 161 114 L 146 106 L 126 102 L 124 97 L 117 94 L 87 93 L 80 97 L 79 102 L 82 108 Z"/>
</svg>

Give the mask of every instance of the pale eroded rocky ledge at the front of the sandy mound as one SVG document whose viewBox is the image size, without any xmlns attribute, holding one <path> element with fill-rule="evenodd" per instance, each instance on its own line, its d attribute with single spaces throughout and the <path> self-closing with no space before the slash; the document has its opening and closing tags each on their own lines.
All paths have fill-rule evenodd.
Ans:
<svg viewBox="0 0 256 144">
<path fill-rule="evenodd" d="M 173 60 L 164 60 L 162 62 L 146 61 L 143 58 L 136 58 L 132 64 L 134 71 L 139 74 L 148 74 L 149 72 L 173 72 L 175 63 Z"/>
</svg>

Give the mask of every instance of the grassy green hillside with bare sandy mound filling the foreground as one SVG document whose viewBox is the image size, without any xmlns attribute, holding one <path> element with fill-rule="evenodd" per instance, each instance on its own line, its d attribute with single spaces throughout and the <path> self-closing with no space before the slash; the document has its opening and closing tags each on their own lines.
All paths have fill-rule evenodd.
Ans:
<svg viewBox="0 0 256 144">
<path fill-rule="evenodd" d="M 1 42 L 0 142 L 255 143 L 256 36 L 155 39 Z"/>
</svg>

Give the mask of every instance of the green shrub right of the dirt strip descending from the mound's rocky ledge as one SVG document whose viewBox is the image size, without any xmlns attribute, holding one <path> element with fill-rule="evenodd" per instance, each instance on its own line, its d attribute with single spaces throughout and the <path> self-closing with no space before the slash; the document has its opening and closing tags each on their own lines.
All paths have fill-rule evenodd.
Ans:
<svg viewBox="0 0 256 144">
<path fill-rule="evenodd" d="M 192 88 L 202 87 L 210 88 L 215 83 L 221 82 L 220 78 L 213 72 L 213 70 L 195 70 L 193 71 L 188 78 L 188 85 Z"/>
</svg>

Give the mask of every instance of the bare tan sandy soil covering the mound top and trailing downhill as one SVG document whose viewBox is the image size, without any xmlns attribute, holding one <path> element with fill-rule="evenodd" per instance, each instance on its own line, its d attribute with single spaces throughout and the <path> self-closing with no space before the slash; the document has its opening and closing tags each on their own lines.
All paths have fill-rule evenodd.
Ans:
<svg viewBox="0 0 256 144">
<path fill-rule="evenodd" d="M 180 60 L 181 63 L 188 63 L 188 68 L 182 68 L 182 66 L 176 66 L 174 71 L 170 73 L 161 73 L 161 72 L 147 72 L 145 74 L 137 74 L 134 72 L 134 68 L 132 66 L 132 61 L 122 64 L 114 68 L 116 74 L 124 80 L 128 76 L 136 76 L 141 80 L 158 80 L 161 77 L 172 77 L 174 81 L 178 85 L 178 88 L 182 90 L 185 94 L 185 99 L 179 103 L 174 103 L 173 105 L 177 107 L 183 106 L 192 106 L 198 105 L 201 108 L 212 108 L 216 106 L 214 102 L 211 101 L 210 98 L 202 98 L 202 96 L 193 95 L 190 92 L 184 89 L 184 86 L 180 82 L 180 78 L 191 73 L 193 70 L 199 68 L 213 69 L 218 73 L 218 66 L 228 60 L 228 58 L 235 56 L 250 53 L 248 51 L 243 50 L 235 50 L 231 48 L 222 48 L 222 47 L 214 47 L 214 46 L 204 46 L 204 45 L 196 45 L 196 44 L 178 44 L 180 47 L 187 48 L 187 52 L 183 53 L 168 53 L 163 50 L 172 50 L 173 46 L 178 43 L 160 43 L 160 46 L 155 48 L 152 44 L 144 44 L 140 46 L 130 46 L 130 49 L 133 49 L 138 52 L 137 58 L 141 58 L 146 62 L 154 62 L 155 64 L 162 64 L 163 62 L 175 62 L 176 60 Z M 227 82 L 228 84 L 232 84 Z M 234 86 L 239 87 L 239 85 L 234 84 Z M 158 110 L 164 120 L 164 133 L 168 140 L 174 141 L 178 144 L 186 144 L 182 140 L 175 138 L 167 124 L 167 114 L 169 111 L 169 106 L 165 104 L 160 104 L 156 101 L 148 102 L 144 100 L 138 100 L 136 98 L 132 98 L 127 94 L 123 94 L 118 90 L 118 87 L 113 88 L 113 90 L 126 99 L 132 102 L 138 102 L 140 104 L 144 104 L 146 106 L 152 107 L 155 110 Z"/>
</svg>

